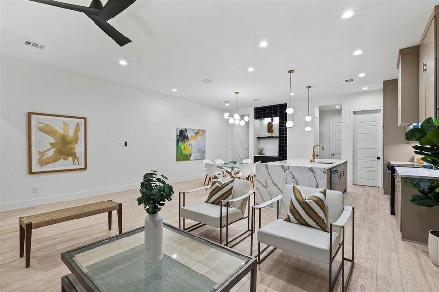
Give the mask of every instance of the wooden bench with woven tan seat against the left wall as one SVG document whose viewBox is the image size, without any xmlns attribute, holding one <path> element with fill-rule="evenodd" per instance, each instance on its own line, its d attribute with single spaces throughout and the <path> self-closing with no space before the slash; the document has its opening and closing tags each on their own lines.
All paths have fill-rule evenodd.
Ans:
<svg viewBox="0 0 439 292">
<path fill-rule="evenodd" d="M 120 234 L 122 233 L 122 204 L 111 200 L 20 217 L 20 257 L 24 256 L 24 244 L 26 243 L 26 268 L 30 265 L 32 229 L 107 212 L 108 230 L 111 230 L 111 212 L 115 210 L 117 210 Z"/>
</svg>

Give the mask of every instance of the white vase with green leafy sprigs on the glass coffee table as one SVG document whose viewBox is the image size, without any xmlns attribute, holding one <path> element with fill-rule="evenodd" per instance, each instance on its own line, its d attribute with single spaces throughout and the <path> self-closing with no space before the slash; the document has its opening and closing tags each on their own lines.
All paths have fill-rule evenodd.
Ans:
<svg viewBox="0 0 439 292">
<path fill-rule="evenodd" d="M 140 183 L 138 205 L 143 204 L 145 217 L 145 262 L 155 263 L 163 258 L 163 217 L 159 211 L 165 201 L 171 201 L 174 190 L 166 182 L 168 178 L 157 175 L 156 170 L 146 173 Z"/>
</svg>

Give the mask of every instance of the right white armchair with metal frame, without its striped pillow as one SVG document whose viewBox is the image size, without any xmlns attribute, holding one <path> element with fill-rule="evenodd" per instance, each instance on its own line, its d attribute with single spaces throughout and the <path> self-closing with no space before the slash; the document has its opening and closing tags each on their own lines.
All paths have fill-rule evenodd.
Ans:
<svg viewBox="0 0 439 292">
<path fill-rule="evenodd" d="M 320 189 L 296 186 L 305 198 L 319 192 Z M 285 185 L 282 195 L 277 196 L 260 205 L 253 206 L 252 212 L 252 229 L 255 230 L 255 213 L 259 210 L 259 227 L 257 230 L 258 240 L 258 264 L 264 261 L 276 248 L 284 251 L 306 257 L 308 259 L 329 264 L 329 291 L 332 291 L 334 284 L 337 282 L 340 269 L 342 270 L 342 291 L 344 285 L 344 260 L 350 261 L 351 266 L 347 278 L 346 286 L 349 283 L 352 267 L 354 265 L 354 208 L 344 206 L 343 193 L 338 191 L 327 190 L 326 192 L 326 208 L 327 208 L 327 227 L 329 232 L 320 229 L 290 223 L 284 221 L 287 216 L 291 195 L 293 194 L 293 185 Z M 261 211 L 263 208 L 277 202 L 277 220 L 261 227 Z M 344 227 L 352 217 L 352 256 L 344 257 Z M 253 233 L 252 233 L 253 234 Z M 267 246 L 261 250 L 261 243 Z M 268 247 L 273 248 L 267 252 L 266 256 L 261 259 L 261 254 Z M 338 252 L 342 249 L 341 268 L 335 273 L 335 281 L 332 282 L 332 263 Z M 331 251 L 331 252 L 329 252 Z M 251 237 L 250 255 L 253 255 L 253 236 Z"/>
</svg>

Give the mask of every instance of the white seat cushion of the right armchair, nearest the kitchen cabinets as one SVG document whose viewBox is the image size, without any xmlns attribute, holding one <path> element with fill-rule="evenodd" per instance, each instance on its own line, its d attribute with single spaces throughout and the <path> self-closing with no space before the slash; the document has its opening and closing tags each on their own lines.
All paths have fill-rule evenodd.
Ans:
<svg viewBox="0 0 439 292">
<path fill-rule="evenodd" d="M 258 241 L 284 251 L 329 264 L 329 232 L 278 219 L 258 230 Z M 332 232 L 332 252 L 340 242 Z"/>
</svg>

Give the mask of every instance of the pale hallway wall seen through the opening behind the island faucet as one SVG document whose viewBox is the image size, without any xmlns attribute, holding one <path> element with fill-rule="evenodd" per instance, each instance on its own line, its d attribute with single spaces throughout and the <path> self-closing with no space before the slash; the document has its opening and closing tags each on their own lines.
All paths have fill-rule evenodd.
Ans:
<svg viewBox="0 0 439 292">
<path fill-rule="evenodd" d="M 322 110 L 319 119 L 319 143 L 324 146 L 325 151 L 319 152 L 319 158 L 330 159 L 331 151 L 331 123 L 342 121 L 342 110 Z"/>
</svg>

